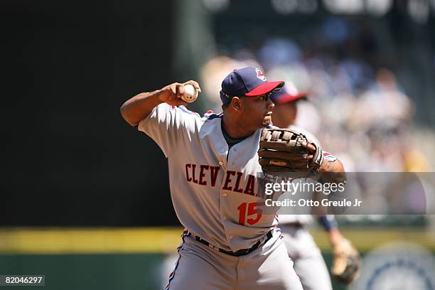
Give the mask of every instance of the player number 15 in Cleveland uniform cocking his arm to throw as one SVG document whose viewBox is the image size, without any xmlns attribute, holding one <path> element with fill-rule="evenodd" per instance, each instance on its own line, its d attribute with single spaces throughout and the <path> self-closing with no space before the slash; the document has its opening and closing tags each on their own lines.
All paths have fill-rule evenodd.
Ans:
<svg viewBox="0 0 435 290">
<path fill-rule="evenodd" d="M 168 159 L 171 198 L 186 228 L 166 289 L 302 289 L 275 215 L 258 206 L 257 150 L 271 124 L 272 90 L 258 68 L 222 81 L 221 114 L 186 109 L 183 85 L 144 92 L 122 105 L 124 119 L 149 135 Z M 323 168 L 329 168 L 324 164 Z"/>
</svg>

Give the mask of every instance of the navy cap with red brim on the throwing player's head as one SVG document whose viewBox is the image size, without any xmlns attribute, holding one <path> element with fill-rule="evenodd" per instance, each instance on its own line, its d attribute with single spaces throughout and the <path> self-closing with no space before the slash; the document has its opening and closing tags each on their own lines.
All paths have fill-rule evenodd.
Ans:
<svg viewBox="0 0 435 290">
<path fill-rule="evenodd" d="M 259 68 L 240 68 L 233 70 L 222 81 L 220 100 L 223 104 L 231 101 L 232 97 L 257 97 L 282 87 L 284 81 L 268 82 Z"/>
</svg>

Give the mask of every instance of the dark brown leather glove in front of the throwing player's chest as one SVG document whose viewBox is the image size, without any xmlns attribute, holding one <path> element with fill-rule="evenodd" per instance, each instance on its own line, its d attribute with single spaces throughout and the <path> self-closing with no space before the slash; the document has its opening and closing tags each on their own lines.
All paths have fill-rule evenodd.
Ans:
<svg viewBox="0 0 435 290">
<path fill-rule="evenodd" d="M 279 128 L 263 129 L 258 156 L 263 172 L 293 173 L 295 177 L 317 173 L 323 161 L 320 146 L 299 131 Z"/>
</svg>

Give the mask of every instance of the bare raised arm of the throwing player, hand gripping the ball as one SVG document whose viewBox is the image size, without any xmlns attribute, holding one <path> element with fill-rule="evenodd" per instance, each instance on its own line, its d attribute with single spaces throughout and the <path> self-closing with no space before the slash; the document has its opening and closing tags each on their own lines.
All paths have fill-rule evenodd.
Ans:
<svg viewBox="0 0 435 290">
<path fill-rule="evenodd" d="M 163 102 L 173 106 L 186 106 L 187 102 L 181 100 L 181 97 L 184 94 L 184 85 L 186 84 L 193 85 L 193 87 L 199 90 L 199 92 L 201 90 L 198 82 L 189 80 L 184 83 L 174 82 L 173 84 L 167 85 L 161 90 L 156 90 L 154 92 L 142 92 L 122 104 L 122 117 L 131 126 L 137 126 L 141 119 L 147 117 L 154 107 Z"/>
</svg>

